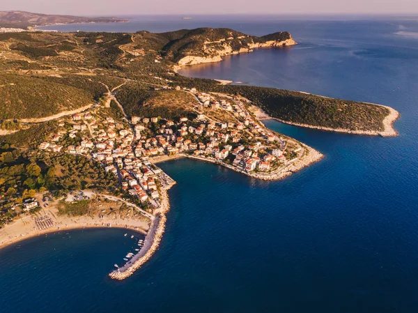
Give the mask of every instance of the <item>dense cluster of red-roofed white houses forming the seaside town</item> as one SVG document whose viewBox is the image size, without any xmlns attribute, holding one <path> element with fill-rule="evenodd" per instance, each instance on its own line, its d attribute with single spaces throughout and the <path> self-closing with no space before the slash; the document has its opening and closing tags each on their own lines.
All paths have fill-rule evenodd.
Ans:
<svg viewBox="0 0 418 313">
<path fill-rule="evenodd" d="M 281 171 L 305 153 L 305 147 L 268 130 L 242 100 L 184 90 L 196 97 L 189 116 L 166 120 L 159 116 L 105 116 L 102 107 L 59 121 L 59 131 L 38 148 L 51 153 L 84 155 L 113 173 L 123 192 L 160 206 L 160 188 L 173 180 L 155 160 L 194 158 L 223 165 L 260 179 L 277 179 Z M 68 144 L 68 143 L 71 144 Z"/>
</svg>

